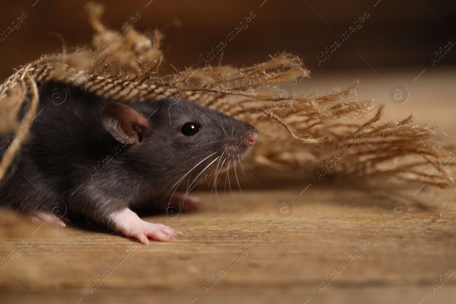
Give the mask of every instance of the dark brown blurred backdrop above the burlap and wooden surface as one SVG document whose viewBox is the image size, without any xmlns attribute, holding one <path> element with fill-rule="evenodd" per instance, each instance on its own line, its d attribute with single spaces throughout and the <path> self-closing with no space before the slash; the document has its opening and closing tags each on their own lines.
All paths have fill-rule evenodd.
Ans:
<svg viewBox="0 0 456 304">
<path fill-rule="evenodd" d="M 251 65 L 250 60 L 262 62 L 269 54 L 286 50 L 300 55 L 314 73 L 340 68 L 370 69 L 368 64 L 377 71 L 412 65 L 431 68 L 435 52 L 448 41 L 456 41 L 453 36 L 456 33 L 454 1 L 149 1 L 98 1 L 105 6 L 100 21 L 119 29 L 139 11 L 141 17 L 135 23 L 136 30 L 158 28 L 166 35 L 162 47 L 166 51 L 165 69 L 172 69 L 169 64 L 182 69 L 197 63 L 200 56 L 212 46 L 218 46 L 221 40 L 228 42 L 223 63 L 237 67 Z M 93 31 L 87 22 L 88 12 L 83 7 L 83 0 L 3 2 L 0 31 L 6 31 L 22 12 L 27 17 L 18 29 L 0 42 L 2 79 L 23 61 L 61 50 L 61 40 L 50 32 L 61 34 L 67 46 L 83 46 L 91 41 Z M 228 41 L 225 35 L 250 12 L 255 17 L 248 27 Z M 364 12 L 369 17 L 362 27 L 342 41 L 339 35 L 342 36 Z M 321 57 L 321 52 L 335 40 L 341 41 L 342 45 L 319 66 L 317 57 Z M 435 65 L 448 66 L 455 62 L 456 51 L 451 49 Z M 218 60 L 214 59 L 211 64 L 218 65 Z"/>
</svg>

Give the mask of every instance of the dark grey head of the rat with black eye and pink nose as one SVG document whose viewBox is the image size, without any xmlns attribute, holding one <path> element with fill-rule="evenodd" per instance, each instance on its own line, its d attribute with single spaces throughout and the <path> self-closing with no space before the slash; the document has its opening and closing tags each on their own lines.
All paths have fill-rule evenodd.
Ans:
<svg viewBox="0 0 456 304">
<path fill-rule="evenodd" d="M 109 103 L 101 121 L 114 139 L 129 144 L 128 157 L 143 174 L 169 186 L 242 160 L 259 135 L 249 124 L 187 101 Z"/>
</svg>

